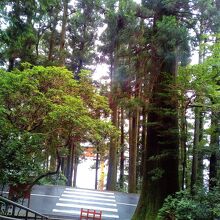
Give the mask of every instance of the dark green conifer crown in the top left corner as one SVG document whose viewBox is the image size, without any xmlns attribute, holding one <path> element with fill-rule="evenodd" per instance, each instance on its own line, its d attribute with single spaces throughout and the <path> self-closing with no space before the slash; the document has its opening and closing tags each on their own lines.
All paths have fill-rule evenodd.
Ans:
<svg viewBox="0 0 220 220">
<path fill-rule="evenodd" d="M 33 46 L 36 42 L 34 14 L 37 4 L 28 1 L 1 1 L 0 13 L 5 28 L 0 30 L 1 60 L 8 63 L 8 71 L 12 71 L 17 60 L 34 63 Z M 9 10 L 10 8 L 10 10 Z"/>
</svg>

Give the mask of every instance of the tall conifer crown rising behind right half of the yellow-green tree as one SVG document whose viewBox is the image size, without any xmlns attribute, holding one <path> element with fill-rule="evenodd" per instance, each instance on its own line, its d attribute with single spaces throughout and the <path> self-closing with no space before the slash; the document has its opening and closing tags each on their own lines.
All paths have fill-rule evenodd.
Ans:
<svg viewBox="0 0 220 220">
<path fill-rule="evenodd" d="M 96 40 L 101 23 L 99 0 L 75 1 L 75 13 L 67 24 L 69 62 L 67 66 L 78 78 L 80 71 L 96 65 Z"/>
</svg>

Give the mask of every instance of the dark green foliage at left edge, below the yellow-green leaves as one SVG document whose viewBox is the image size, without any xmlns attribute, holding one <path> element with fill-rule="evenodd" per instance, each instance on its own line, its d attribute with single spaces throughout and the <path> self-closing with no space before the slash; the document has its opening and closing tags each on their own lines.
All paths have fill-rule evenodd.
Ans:
<svg viewBox="0 0 220 220">
<path fill-rule="evenodd" d="M 39 174 L 43 158 L 43 136 L 40 134 L 14 133 L 1 140 L 0 167 L 3 183 L 27 183 Z"/>
</svg>

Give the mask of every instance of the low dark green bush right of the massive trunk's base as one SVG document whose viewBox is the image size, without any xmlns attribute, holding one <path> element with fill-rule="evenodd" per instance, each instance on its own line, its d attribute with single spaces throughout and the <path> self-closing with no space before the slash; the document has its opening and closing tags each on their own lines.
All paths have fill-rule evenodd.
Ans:
<svg viewBox="0 0 220 220">
<path fill-rule="evenodd" d="M 197 190 L 194 197 L 187 191 L 168 196 L 160 209 L 158 219 L 214 219 L 220 217 L 220 191 Z"/>
</svg>

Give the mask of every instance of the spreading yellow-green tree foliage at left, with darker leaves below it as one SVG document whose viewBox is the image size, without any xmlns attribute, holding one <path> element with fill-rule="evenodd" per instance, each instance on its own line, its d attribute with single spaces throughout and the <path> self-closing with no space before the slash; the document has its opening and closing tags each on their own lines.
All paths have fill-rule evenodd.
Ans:
<svg viewBox="0 0 220 220">
<path fill-rule="evenodd" d="M 80 81 L 62 67 L 23 65 L 0 72 L 1 182 L 31 182 L 44 173 L 46 156 L 65 152 L 70 137 L 103 140 L 116 129 L 97 118 L 108 112 L 84 74 Z"/>
</svg>

